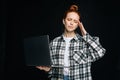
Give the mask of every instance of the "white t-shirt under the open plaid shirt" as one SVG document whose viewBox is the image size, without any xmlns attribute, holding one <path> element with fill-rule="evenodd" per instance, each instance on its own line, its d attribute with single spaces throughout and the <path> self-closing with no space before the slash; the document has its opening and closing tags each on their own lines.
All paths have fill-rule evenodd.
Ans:
<svg viewBox="0 0 120 80">
<path fill-rule="evenodd" d="M 69 46 L 70 46 L 70 40 L 73 37 L 65 37 L 64 36 L 64 40 L 65 40 L 65 53 L 64 53 L 64 75 L 68 75 L 69 73 Z"/>
</svg>

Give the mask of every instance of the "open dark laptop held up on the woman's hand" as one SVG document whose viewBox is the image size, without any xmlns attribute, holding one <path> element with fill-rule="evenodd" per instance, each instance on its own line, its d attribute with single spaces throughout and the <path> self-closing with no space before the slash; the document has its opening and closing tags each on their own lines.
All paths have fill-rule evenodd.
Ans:
<svg viewBox="0 0 120 80">
<path fill-rule="evenodd" d="M 49 36 L 24 38 L 24 58 L 27 66 L 51 66 Z"/>
</svg>

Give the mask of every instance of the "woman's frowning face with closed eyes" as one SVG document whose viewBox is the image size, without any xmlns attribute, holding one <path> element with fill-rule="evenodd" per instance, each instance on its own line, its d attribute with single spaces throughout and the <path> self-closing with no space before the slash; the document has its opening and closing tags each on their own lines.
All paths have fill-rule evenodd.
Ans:
<svg viewBox="0 0 120 80">
<path fill-rule="evenodd" d="M 74 32 L 75 29 L 78 27 L 78 21 L 80 17 L 75 12 L 69 12 L 67 13 L 67 16 L 65 19 L 63 19 L 63 24 L 65 25 L 65 30 L 67 32 Z"/>
</svg>

